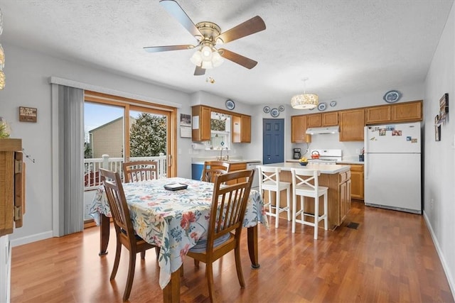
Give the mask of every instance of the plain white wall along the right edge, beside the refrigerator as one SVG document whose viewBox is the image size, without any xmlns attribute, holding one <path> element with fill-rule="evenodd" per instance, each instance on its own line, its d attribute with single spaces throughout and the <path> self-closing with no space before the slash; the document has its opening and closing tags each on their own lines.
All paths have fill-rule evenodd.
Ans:
<svg viewBox="0 0 455 303">
<path fill-rule="evenodd" d="M 424 217 L 455 294 L 455 8 L 425 80 L 424 97 Z M 441 126 L 441 141 L 434 141 L 434 116 L 439 99 L 449 93 L 449 121 Z"/>
</svg>

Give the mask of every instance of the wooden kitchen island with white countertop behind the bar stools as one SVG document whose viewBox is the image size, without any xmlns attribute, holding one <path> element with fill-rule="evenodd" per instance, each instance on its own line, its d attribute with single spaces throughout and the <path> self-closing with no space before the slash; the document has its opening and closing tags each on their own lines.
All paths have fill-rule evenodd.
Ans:
<svg viewBox="0 0 455 303">
<path fill-rule="evenodd" d="M 279 178 L 280 181 L 292 182 L 291 168 L 304 168 L 306 170 L 319 170 L 319 185 L 328 187 L 328 226 L 330 229 L 336 228 L 343 223 L 346 215 L 350 210 L 350 166 L 349 165 L 324 165 L 324 164 L 308 164 L 302 166 L 299 163 L 282 162 L 264 165 L 267 167 L 279 167 L 282 169 Z M 286 194 L 283 191 L 280 196 L 280 204 L 286 205 Z M 311 198 L 306 198 L 311 199 Z M 312 203 L 307 203 L 305 212 L 314 214 Z M 292 203 L 291 203 L 292 205 Z M 299 210 L 297 203 L 297 211 Z M 323 199 L 319 200 L 319 209 L 323 210 Z M 282 213 L 285 214 L 285 213 Z M 285 216 L 283 216 L 285 218 Z M 319 222 L 323 227 L 323 221 Z"/>
</svg>

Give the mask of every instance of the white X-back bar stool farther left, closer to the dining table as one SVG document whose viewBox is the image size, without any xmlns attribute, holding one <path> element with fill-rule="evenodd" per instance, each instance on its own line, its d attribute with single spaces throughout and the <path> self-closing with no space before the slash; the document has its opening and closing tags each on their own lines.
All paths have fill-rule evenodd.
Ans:
<svg viewBox="0 0 455 303">
<path fill-rule="evenodd" d="M 259 165 L 257 168 L 259 170 L 259 192 L 262 195 L 262 199 L 264 199 L 265 191 L 267 190 L 269 192 L 269 201 L 267 204 L 264 204 L 264 207 L 269 206 L 269 211 L 266 211 L 266 214 L 276 218 L 275 228 L 278 228 L 278 219 L 281 212 L 287 211 L 287 221 L 291 221 L 291 182 L 279 181 L 279 172 L 281 172 L 281 168 L 279 167 Z M 279 196 L 283 190 L 286 190 L 287 194 L 286 207 L 280 207 L 279 204 Z M 275 192 L 277 197 L 275 206 L 272 206 L 272 192 Z M 272 209 L 275 210 L 275 213 L 272 212 Z"/>
</svg>

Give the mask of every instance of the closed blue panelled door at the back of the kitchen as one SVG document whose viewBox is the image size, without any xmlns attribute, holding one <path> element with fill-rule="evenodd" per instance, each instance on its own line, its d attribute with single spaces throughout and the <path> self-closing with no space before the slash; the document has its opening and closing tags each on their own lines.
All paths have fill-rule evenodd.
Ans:
<svg viewBox="0 0 455 303">
<path fill-rule="evenodd" d="M 263 119 L 262 138 L 262 163 L 284 162 L 284 119 Z"/>
</svg>

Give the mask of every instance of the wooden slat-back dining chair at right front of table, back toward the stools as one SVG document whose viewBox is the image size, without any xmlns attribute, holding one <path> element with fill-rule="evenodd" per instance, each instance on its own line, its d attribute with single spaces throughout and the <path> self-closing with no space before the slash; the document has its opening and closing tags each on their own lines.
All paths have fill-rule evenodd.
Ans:
<svg viewBox="0 0 455 303">
<path fill-rule="evenodd" d="M 254 170 L 237 170 L 215 176 L 207 239 L 198 241 L 187 255 L 206 264 L 210 302 L 215 298 L 213 262 L 231 250 L 235 251 L 235 268 L 240 287 L 245 287 L 240 260 L 240 236 Z M 228 184 L 229 181 L 236 182 Z"/>
</svg>

